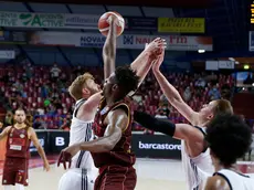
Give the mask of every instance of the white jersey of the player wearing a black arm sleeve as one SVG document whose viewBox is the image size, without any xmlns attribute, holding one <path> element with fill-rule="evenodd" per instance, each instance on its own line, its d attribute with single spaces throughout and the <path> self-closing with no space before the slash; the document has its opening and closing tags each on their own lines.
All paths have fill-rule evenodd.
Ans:
<svg viewBox="0 0 254 190">
<path fill-rule="evenodd" d="M 200 129 L 205 135 L 204 128 L 195 128 Z M 199 156 L 191 158 L 186 150 L 184 140 L 181 140 L 181 145 L 182 165 L 186 172 L 188 189 L 198 190 L 200 184 L 202 184 L 207 180 L 207 178 L 211 177 L 214 172 L 214 167 L 212 165 L 212 159 L 210 156 L 210 149 L 207 148 Z"/>
</svg>

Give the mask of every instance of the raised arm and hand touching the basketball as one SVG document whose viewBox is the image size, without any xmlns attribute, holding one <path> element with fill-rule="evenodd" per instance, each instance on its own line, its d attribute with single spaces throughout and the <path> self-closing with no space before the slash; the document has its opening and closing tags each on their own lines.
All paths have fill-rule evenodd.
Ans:
<svg viewBox="0 0 254 190">
<path fill-rule="evenodd" d="M 103 46 L 103 61 L 104 61 L 104 78 L 108 78 L 113 72 L 115 72 L 116 61 L 116 22 L 118 21 L 116 15 L 108 18 L 109 29 L 107 39 Z"/>
</svg>

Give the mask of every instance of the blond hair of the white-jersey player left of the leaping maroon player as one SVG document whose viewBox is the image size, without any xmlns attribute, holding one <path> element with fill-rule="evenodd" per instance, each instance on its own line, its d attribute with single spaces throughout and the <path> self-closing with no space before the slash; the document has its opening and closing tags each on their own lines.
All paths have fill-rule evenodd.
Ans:
<svg viewBox="0 0 254 190">
<path fill-rule="evenodd" d="M 68 87 L 68 93 L 73 98 L 77 101 L 83 97 L 82 89 L 88 80 L 94 80 L 93 75 L 89 73 L 84 73 L 83 75 L 77 76 L 76 80 L 71 84 Z"/>
</svg>

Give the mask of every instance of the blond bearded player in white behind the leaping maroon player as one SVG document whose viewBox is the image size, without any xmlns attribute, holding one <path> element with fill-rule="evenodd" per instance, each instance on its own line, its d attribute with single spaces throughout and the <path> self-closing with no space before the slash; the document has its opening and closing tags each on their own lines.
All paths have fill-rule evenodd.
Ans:
<svg viewBox="0 0 254 190">
<path fill-rule="evenodd" d="M 70 130 L 71 146 L 93 138 L 92 125 L 96 112 L 94 102 L 97 96 L 92 95 L 99 92 L 99 87 L 94 77 L 85 73 L 76 77 L 68 92 L 76 101 Z M 80 151 L 73 157 L 71 169 L 61 178 L 59 190 L 93 190 L 97 172 L 91 152 Z"/>
</svg>

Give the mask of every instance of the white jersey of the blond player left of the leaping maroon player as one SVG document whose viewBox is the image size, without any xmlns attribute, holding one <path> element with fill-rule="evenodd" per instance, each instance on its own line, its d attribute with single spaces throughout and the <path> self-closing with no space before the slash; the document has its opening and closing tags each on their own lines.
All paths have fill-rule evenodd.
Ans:
<svg viewBox="0 0 254 190">
<path fill-rule="evenodd" d="M 76 118 L 78 108 L 85 103 L 85 99 L 80 99 L 75 104 L 73 112 L 72 125 L 70 129 L 70 144 L 68 146 L 77 142 L 89 141 L 93 139 L 93 120 L 81 120 Z M 72 158 L 71 168 L 94 169 L 94 161 L 89 151 L 78 151 Z"/>
</svg>

